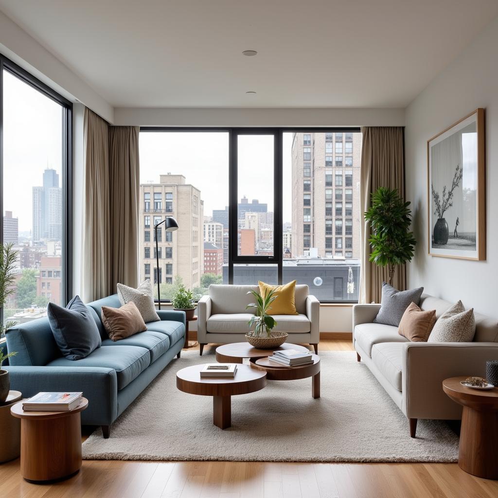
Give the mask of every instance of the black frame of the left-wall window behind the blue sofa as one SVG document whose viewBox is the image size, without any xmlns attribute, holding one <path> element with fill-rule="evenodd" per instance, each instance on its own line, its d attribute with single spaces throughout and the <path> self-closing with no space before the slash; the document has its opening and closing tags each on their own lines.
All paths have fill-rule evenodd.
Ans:
<svg viewBox="0 0 498 498">
<path fill-rule="evenodd" d="M 0 211 L 3 210 L 3 70 L 37 90 L 62 108 L 62 281 L 61 305 L 73 294 L 73 103 L 0 53 Z M 3 215 L 0 216 L 0 244 L 3 244 Z M 3 307 L 0 309 L 3 320 Z"/>
</svg>

